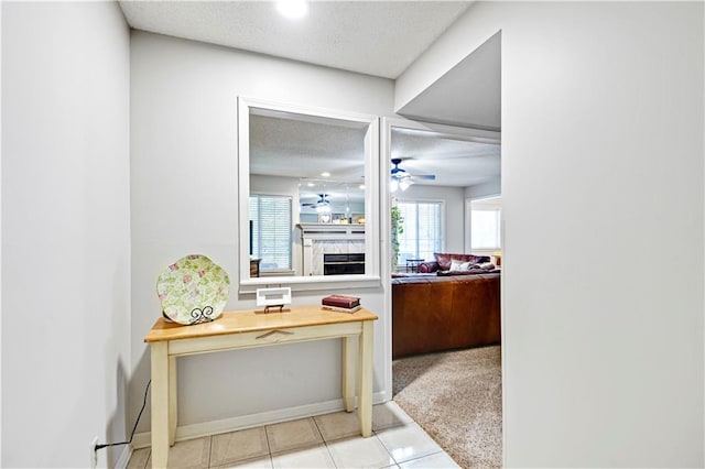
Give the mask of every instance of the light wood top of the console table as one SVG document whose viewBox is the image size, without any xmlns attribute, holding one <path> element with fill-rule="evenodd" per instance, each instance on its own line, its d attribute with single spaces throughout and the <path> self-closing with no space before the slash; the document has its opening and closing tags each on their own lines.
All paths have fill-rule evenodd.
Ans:
<svg viewBox="0 0 705 469">
<path fill-rule="evenodd" d="M 326 324 L 356 323 L 378 319 L 365 308 L 355 313 L 338 313 L 323 309 L 321 306 L 290 306 L 282 313 L 274 309 L 225 312 L 210 323 L 186 326 L 167 323 L 163 317 L 156 319 L 154 326 L 144 338 L 145 342 L 159 342 L 175 339 L 193 339 L 197 337 L 219 336 L 225 334 L 252 332 L 260 330 L 283 329 L 291 327 L 321 326 Z"/>
</svg>

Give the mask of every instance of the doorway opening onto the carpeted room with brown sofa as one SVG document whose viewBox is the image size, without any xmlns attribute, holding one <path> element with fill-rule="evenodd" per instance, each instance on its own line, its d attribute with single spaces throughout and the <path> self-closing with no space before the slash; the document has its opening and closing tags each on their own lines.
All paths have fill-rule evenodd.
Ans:
<svg viewBox="0 0 705 469">
<path fill-rule="evenodd" d="M 391 397 L 462 467 L 501 467 L 500 140 L 387 124 L 411 182 L 390 170 Z"/>
</svg>

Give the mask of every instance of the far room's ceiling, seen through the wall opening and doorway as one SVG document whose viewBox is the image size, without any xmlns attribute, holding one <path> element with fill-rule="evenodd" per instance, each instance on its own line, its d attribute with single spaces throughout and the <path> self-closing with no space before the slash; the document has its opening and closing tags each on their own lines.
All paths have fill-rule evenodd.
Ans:
<svg viewBox="0 0 705 469">
<path fill-rule="evenodd" d="M 318 179 L 302 184 L 303 201 L 315 201 L 325 192 L 351 200 L 362 197 L 358 185 L 365 174 L 365 129 L 295 119 L 250 116 L 250 173 Z M 500 146 L 438 135 L 435 132 L 392 129 L 392 157 L 411 175 L 434 174 L 435 181 L 417 184 L 467 187 L 500 174 Z M 330 173 L 321 181 L 322 172 Z"/>
</svg>

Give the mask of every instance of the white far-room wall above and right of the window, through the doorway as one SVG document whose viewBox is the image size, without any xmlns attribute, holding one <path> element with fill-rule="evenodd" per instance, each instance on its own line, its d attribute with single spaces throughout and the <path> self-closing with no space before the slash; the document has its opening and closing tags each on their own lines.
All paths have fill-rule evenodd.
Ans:
<svg viewBox="0 0 705 469">
<path fill-rule="evenodd" d="M 442 200 L 445 217 L 445 247 L 443 252 L 462 253 L 464 251 L 464 189 L 462 187 L 424 186 L 414 184 L 404 192 L 394 194 L 400 201 L 404 200 Z M 432 261 L 433 259 L 427 259 Z"/>
</svg>

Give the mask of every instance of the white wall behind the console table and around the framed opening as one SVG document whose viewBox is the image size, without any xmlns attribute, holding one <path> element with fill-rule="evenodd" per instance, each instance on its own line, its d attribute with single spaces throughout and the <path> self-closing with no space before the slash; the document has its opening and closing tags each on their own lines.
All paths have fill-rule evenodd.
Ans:
<svg viewBox="0 0 705 469">
<path fill-rule="evenodd" d="M 160 316 L 154 285 L 162 269 L 204 253 L 230 275 L 227 308 L 254 307 L 253 295 L 237 293 L 237 97 L 389 116 L 393 84 L 143 32 L 132 33 L 131 47 L 134 417 L 150 373 L 141 338 Z M 382 316 L 382 287 L 349 292 Z M 318 303 L 323 293 L 299 294 L 294 303 Z M 384 389 L 386 327 L 383 319 L 376 324 L 376 392 L 391 391 Z M 253 423 L 282 410 L 293 415 L 301 406 L 335 403 L 339 359 L 337 341 L 180 359 L 177 437 L 207 429 L 208 422 L 227 427 L 243 424 L 248 414 L 259 414 L 247 421 Z M 139 432 L 149 429 L 149 412 L 142 418 Z"/>
</svg>

